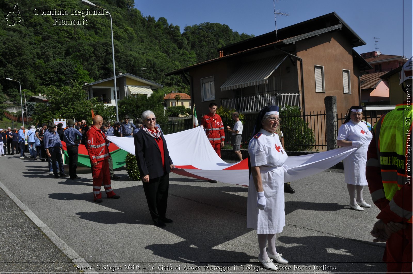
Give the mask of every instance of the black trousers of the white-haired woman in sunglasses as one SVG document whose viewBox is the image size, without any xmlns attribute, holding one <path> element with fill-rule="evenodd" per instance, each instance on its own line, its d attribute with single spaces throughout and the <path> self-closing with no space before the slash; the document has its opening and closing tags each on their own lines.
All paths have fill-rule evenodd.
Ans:
<svg viewBox="0 0 413 274">
<path fill-rule="evenodd" d="M 149 182 L 143 183 L 146 201 L 152 220 L 165 218 L 166 206 L 168 203 L 169 173 L 164 173 L 161 177 L 149 178 Z"/>
</svg>

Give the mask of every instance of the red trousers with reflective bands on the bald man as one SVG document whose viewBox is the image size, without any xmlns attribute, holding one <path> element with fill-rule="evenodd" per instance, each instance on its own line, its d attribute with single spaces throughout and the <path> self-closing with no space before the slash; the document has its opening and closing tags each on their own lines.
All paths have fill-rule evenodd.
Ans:
<svg viewBox="0 0 413 274">
<path fill-rule="evenodd" d="M 95 201 L 102 198 L 102 193 L 100 192 L 102 184 L 108 198 L 116 195 L 110 185 L 109 162 L 107 159 L 97 162 L 97 165 L 92 165 L 92 176 Z"/>
</svg>

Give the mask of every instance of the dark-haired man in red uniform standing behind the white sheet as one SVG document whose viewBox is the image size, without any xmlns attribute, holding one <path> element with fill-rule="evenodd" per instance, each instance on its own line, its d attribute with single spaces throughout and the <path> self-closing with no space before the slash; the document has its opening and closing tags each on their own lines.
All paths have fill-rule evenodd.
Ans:
<svg viewBox="0 0 413 274">
<path fill-rule="evenodd" d="M 216 103 L 209 104 L 209 113 L 202 116 L 202 126 L 207 134 L 211 146 L 214 148 L 216 154 L 221 157 L 221 147 L 224 146 L 225 132 L 224 124 L 221 116 L 216 114 Z M 209 180 L 208 182 L 216 183 L 216 180 Z"/>
</svg>

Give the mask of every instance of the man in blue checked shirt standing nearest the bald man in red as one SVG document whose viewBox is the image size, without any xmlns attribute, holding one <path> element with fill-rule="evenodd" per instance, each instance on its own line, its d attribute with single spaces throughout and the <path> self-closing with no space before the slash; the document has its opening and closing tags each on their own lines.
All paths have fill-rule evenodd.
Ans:
<svg viewBox="0 0 413 274">
<path fill-rule="evenodd" d="M 82 139 L 82 133 L 74 128 L 75 121 L 73 119 L 67 120 L 66 130 L 63 132 L 63 141 L 66 142 L 67 156 L 69 156 L 69 177 L 72 180 L 80 179 L 76 174 L 77 160 L 79 155 L 79 141 L 76 141 L 76 136 L 78 140 Z"/>
</svg>

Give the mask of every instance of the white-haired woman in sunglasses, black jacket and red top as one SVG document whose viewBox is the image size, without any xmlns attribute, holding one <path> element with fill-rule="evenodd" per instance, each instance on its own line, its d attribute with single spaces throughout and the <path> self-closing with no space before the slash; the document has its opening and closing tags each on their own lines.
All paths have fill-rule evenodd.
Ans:
<svg viewBox="0 0 413 274">
<path fill-rule="evenodd" d="M 169 172 L 173 169 L 164 136 L 155 126 L 155 114 L 142 113 L 143 127 L 135 135 L 135 156 L 152 220 L 157 227 L 165 227 L 172 220 L 166 218 Z"/>
</svg>

